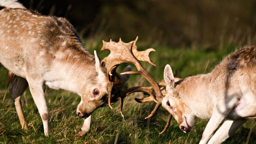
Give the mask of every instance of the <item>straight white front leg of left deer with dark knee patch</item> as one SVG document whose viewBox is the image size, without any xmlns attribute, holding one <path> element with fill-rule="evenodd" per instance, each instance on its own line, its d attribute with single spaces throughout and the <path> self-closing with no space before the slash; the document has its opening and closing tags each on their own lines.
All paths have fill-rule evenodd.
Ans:
<svg viewBox="0 0 256 144">
<path fill-rule="evenodd" d="M 43 82 L 41 80 L 27 78 L 31 95 L 34 99 L 38 112 L 43 121 L 44 135 L 49 136 L 49 111 L 43 92 Z"/>
</svg>

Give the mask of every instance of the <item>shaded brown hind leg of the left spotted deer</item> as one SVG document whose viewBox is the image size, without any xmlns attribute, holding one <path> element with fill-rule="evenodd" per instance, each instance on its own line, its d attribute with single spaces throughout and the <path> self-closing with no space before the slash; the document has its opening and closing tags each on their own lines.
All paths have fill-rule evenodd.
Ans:
<svg viewBox="0 0 256 144">
<path fill-rule="evenodd" d="M 21 122 L 22 129 L 25 129 L 26 131 L 28 131 L 29 129 L 25 121 L 25 117 L 22 109 L 21 96 L 27 87 L 28 87 L 27 80 L 18 76 L 14 77 L 9 87 L 10 96 L 15 105 L 15 109 L 17 111 L 19 120 Z"/>
</svg>

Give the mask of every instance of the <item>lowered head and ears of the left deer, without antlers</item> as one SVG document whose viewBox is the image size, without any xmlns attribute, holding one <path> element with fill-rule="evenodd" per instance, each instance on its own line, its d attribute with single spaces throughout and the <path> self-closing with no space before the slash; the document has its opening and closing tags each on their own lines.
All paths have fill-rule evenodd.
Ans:
<svg viewBox="0 0 256 144">
<path fill-rule="evenodd" d="M 129 75 L 120 75 L 115 72 L 115 83 L 109 82 L 104 66 L 101 66 L 100 59 L 95 55 L 95 69 L 96 74 L 90 80 L 90 84 L 86 85 L 83 91 L 85 94 L 81 94 L 81 102 L 77 106 L 76 114 L 79 118 L 86 119 L 97 108 L 107 106 L 108 93 L 111 94 L 112 102 L 116 102 L 120 96 L 120 91 L 124 87 L 125 82 L 129 79 Z M 123 72 L 131 70 L 131 66 L 127 66 Z M 111 85 L 111 88 L 109 86 Z M 110 90 L 109 90 L 110 89 Z M 112 90 L 113 89 L 113 90 Z"/>
</svg>

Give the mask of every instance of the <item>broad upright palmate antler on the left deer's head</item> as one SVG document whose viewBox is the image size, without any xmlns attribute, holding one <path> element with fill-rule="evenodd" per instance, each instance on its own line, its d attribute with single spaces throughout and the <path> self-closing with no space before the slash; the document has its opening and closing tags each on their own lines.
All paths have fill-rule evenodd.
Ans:
<svg viewBox="0 0 256 144">
<path fill-rule="evenodd" d="M 138 37 L 136 38 L 135 41 L 132 41 L 130 43 L 124 43 L 122 42 L 121 38 L 118 43 L 113 42 L 110 40 L 109 42 L 103 41 L 103 47 L 101 48 L 101 51 L 103 50 L 110 50 L 110 54 L 105 57 L 101 61 L 101 65 L 103 63 L 105 64 L 105 68 L 107 70 L 107 76 L 109 78 L 109 85 L 108 85 L 108 105 L 111 107 L 111 89 L 114 85 L 114 74 L 113 73 L 116 68 L 118 67 L 119 64 L 121 63 L 133 63 L 138 71 L 129 71 L 129 72 L 124 72 L 122 74 L 137 74 L 145 77 L 149 83 L 153 86 L 153 89 L 155 91 L 155 96 L 156 97 L 163 97 L 160 88 L 158 87 L 156 81 L 151 77 L 151 75 L 142 67 L 140 61 L 146 61 L 153 66 L 156 66 L 149 58 L 149 53 L 152 51 L 155 51 L 154 49 L 148 49 L 146 51 L 139 52 L 137 51 L 137 46 L 135 45 L 138 40 Z M 154 95 L 151 95 L 154 101 L 157 102 L 156 98 Z M 122 102 L 122 100 L 121 100 Z M 158 102 L 160 103 L 160 102 Z M 159 105 L 159 104 L 158 104 Z M 161 103 L 160 103 L 161 105 Z M 159 106 L 158 106 L 159 107 Z M 155 112 L 154 112 L 155 113 Z"/>
</svg>

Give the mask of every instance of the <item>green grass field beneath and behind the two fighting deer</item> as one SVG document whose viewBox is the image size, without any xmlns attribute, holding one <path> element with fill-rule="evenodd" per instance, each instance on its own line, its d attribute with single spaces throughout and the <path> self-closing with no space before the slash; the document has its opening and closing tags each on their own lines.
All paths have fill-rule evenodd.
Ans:
<svg viewBox="0 0 256 144">
<path fill-rule="evenodd" d="M 89 42 L 85 41 L 85 44 Z M 97 50 L 101 58 L 107 52 L 100 53 L 101 43 L 90 43 L 91 53 Z M 154 48 L 156 52 L 150 57 L 157 67 L 142 63 L 143 66 L 160 81 L 163 79 L 163 69 L 166 64 L 170 64 L 172 69 L 177 69 L 179 75 L 186 77 L 199 73 L 210 72 L 216 64 L 227 54 L 234 51 L 233 46 L 224 47 L 222 50 L 212 50 L 210 48 L 172 49 L 169 47 L 156 47 L 138 44 L 139 50 Z M 126 64 L 120 66 L 121 71 Z M 200 141 L 206 120 L 197 120 L 195 128 L 190 133 L 183 133 L 177 122 L 173 119 L 169 129 L 162 135 L 158 133 L 163 130 L 168 114 L 161 107 L 158 113 L 151 119 L 144 118 L 150 114 L 155 103 L 136 103 L 134 97 L 143 97 L 136 93 L 127 97 L 124 101 L 124 119 L 119 114 L 119 102 L 114 104 L 114 109 L 103 107 L 96 110 L 92 115 L 90 132 L 81 138 L 74 137 L 83 124 L 76 114 L 76 106 L 80 97 L 64 90 L 53 90 L 45 87 L 45 95 L 50 111 L 50 137 L 44 137 L 43 125 L 38 110 L 27 89 L 22 97 L 23 110 L 26 122 L 29 125 L 29 132 L 21 129 L 21 125 L 15 111 L 15 107 L 6 93 L 7 70 L 0 68 L 0 143 L 186 143 L 194 144 Z M 140 76 L 131 76 L 126 87 L 148 85 Z M 6 93 L 6 94 L 5 94 Z M 239 128 L 235 135 L 225 143 L 245 143 L 249 132 L 250 123 Z M 256 129 L 255 129 L 256 130 Z M 255 143 L 255 131 L 252 132 L 249 143 Z"/>
</svg>

